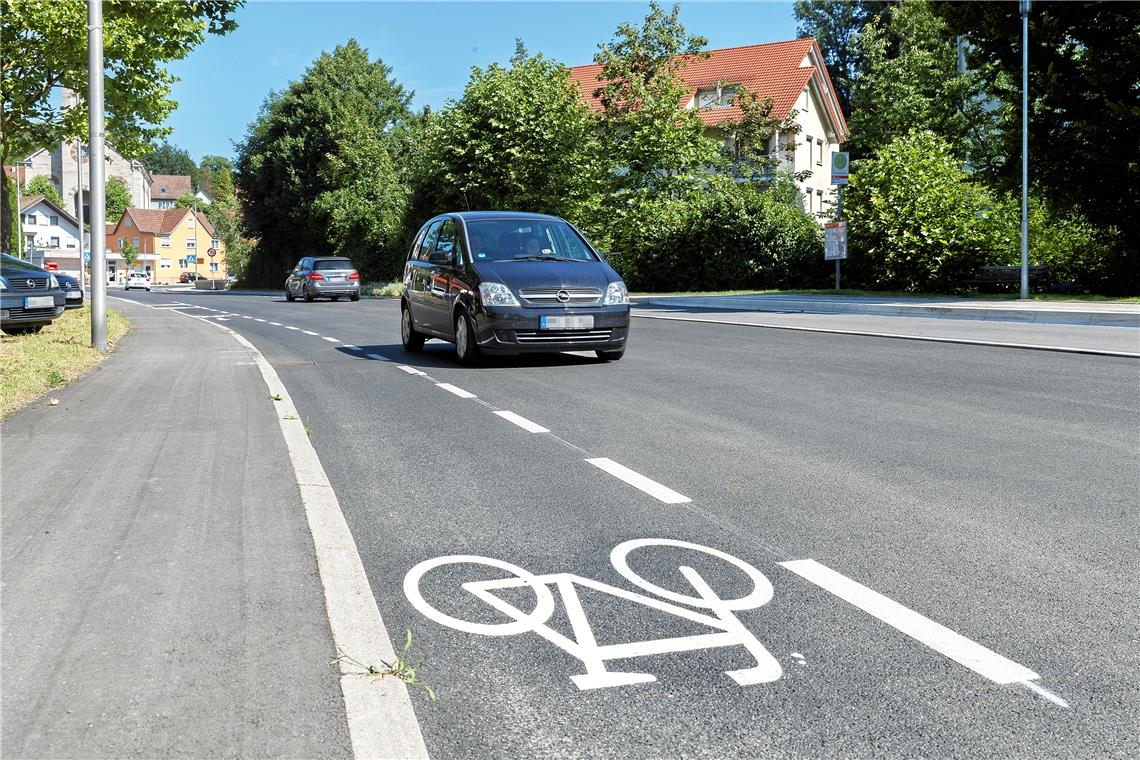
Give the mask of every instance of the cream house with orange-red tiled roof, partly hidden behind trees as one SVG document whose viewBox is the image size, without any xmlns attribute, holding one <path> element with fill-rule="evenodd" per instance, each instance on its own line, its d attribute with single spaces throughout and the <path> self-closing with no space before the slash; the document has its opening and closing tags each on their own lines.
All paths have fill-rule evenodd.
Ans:
<svg viewBox="0 0 1140 760">
<path fill-rule="evenodd" d="M 714 133 L 719 124 L 740 120 L 741 109 L 733 105 L 738 87 L 747 88 L 760 99 L 772 98 L 772 115 L 780 121 L 795 112 L 799 132 L 773 136 L 768 150 L 783 158 L 792 172 L 811 172 L 806 180 L 797 182 L 804 194 L 804 207 L 813 214 L 829 211 L 834 204 L 830 155 L 847 139 L 847 121 L 815 39 L 723 48 L 708 54 L 705 59 L 686 57 L 681 68 L 687 90 L 682 107 L 697 108 Z M 570 70 L 592 113 L 602 111 L 601 99 L 594 97 L 602 85 L 601 70 L 597 64 Z"/>
</svg>

